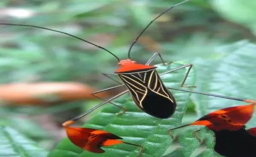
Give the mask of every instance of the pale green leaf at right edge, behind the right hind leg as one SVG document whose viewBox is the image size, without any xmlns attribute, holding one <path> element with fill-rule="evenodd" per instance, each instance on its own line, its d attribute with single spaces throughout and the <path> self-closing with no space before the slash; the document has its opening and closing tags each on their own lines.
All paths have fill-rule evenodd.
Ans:
<svg viewBox="0 0 256 157">
<path fill-rule="evenodd" d="M 228 54 L 220 60 L 198 60 L 196 90 L 235 98 L 255 99 L 256 73 L 253 64 L 256 60 L 255 50 L 255 44 L 240 41 L 216 49 L 216 52 Z M 246 104 L 199 94 L 192 95 L 192 99 L 199 117 L 218 109 Z M 247 125 L 255 126 L 255 119 L 256 117 L 253 116 Z"/>
</svg>

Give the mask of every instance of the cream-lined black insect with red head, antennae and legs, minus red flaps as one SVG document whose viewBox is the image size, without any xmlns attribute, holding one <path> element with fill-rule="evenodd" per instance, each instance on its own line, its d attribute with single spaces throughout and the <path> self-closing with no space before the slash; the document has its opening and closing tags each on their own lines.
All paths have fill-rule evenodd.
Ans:
<svg viewBox="0 0 256 157">
<path fill-rule="evenodd" d="M 160 53 L 154 53 L 153 56 L 151 56 L 151 58 L 145 64 L 137 64 L 135 61 L 131 60 L 131 49 L 132 49 L 132 47 L 138 41 L 140 36 L 146 31 L 146 29 L 151 25 L 151 23 L 153 23 L 155 20 L 157 20 L 160 16 L 165 14 L 167 11 L 169 11 L 172 8 L 175 8 L 175 7 L 185 3 L 187 1 L 189 1 L 189 0 L 184 0 L 183 2 L 178 3 L 175 6 L 172 6 L 172 7 L 168 8 L 166 11 L 163 11 L 156 18 L 154 18 L 154 20 L 149 22 L 148 25 L 143 29 L 143 31 L 137 36 L 137 38 L 131 44 L 131 46 L 128 50 L 128 59 L 125 59 L 125 60 L 120 60 L 111 51 L 109 51 L 105 48 L 102 48 L 99 45 L 93 44 L 92 42 L 81 39 L 80 37 L 77 37 L 77 36 L 74 36 L 74 35 L 71 35 L 71 34 L 67 34 L 65 32 L 56 31 L 56 30 L 53 30 L 53 29 L 44 28 L 44 27 L 35 26 L 35 25 L 20 25 L 20 24 L 12 24 L 12 23 L 0 23 L 0 25 L 16 25 L 16 26 L 34 27 L 34 28 L 41 28 L 41 29 L 46 29 L 46 30 L 49 30 L 49 31 L 55 31 L 55 32 L 58 32 L 58 33 L 66 34 L 68 36 L 72 36 L 76 39 L 79 39 L 79 40 L 87 42 L 91 45 L 94 45 L 94 46 L 96 46 L 96 47 L 98 47 L 102 50 L 105 50 L 117 59 L 118 64 L 119 64 L 120 67 L 116 70 L 116 72 L 112 73 L 112 74 L 111 73 L 103 73 L 103 75 L 107 76 L 108 78 L 111 78 L 114 81 L 116 81 L 116 80 L 113 79 L 111 76 L 113 76 L 113 75 L 119 76 L 119 78 L 122 80 L 123 84 L 120 83 L 119 81 L 116 81 L 120 85 L 115 86 L 115 87 L 110 87 L 110 88 L 104 89 L 104 90 L 99 90 L 99 91 L 93 92 L 92 94 L 94 96 L 100 98 L 99 96 L 96 95 L 97 93 L 101 93 L 101 92 L 104 92 L 104 91 L 107 91 L 107 90 L 112 90 L 112 89 L 123 87 L 123 86 L 127 87 L 128 90 L 125 90 L 124 92 L 119 93 L 119 94 L 113 96 L 112 98 L 109 98 L 108 100 L 105 100 L 104 98 L 101 98 L 102 100 L 104 100 L 104 102 L 97 105 L 96 107 L 93 107 L 92 109 L 90 109 L 86 113 L 83 113 L 81 115 L 76 116 L 75 118 L 72 118 L 70 121 L 77 121 L 80 118 L 82 118 L 85 115 L 92 112 L 93 110 L 98 109 L 99 107 L 102 107 L 103 105 L 105 105 L 107 103 L 111 103 L 111 104 L 115 105 L 116 107 L 121 108 L 123 110 L 123 112 L 121 112 L 121 113 L 124 113 L 127 109 L 125 109 L 121 106 L 118 106 L 118 105 L 114 104 L 111 101 L 113 101 L 114 99 L 116 99 L 119 96 L 124 95 L 125 93 L 128 93 L 128 92 L 130 92 L 130 94 L 131 94 L 135 104 L 137 105 L 137 107 L 139 107 L 140 109 L 142 109 L 144 112 L 148 113 L 149 115 L 152 115 L 152 116 L 157 117 L 157 118 L 163 118 L 163 119 L 171 117 L 174 114 L 176 106 L 177 106 L 175 98 L 173 97 L 172 93 L 169 90 L 180 90 L 180 91 L 198 93 L 198 94 L 203 94 L 203 95 L 210 95 L 210 96 L 215 96 L 215 97 L 220 97 L 220 98 L 227 98 L 227 99 L 232 99 L 232 100 L 244 101 L 244 99 L 241 99 L 241 98 L 231 98 L 231 97 L 226 97 L 226 96 L 221 96 L 221 95 L 195 92 L 195 91 L 190 91 L 190 90 L 184 90 L 184 89 L 178 89 L 178 88 L 172 88 L 172 87 L 164 86 L 163 82 L 160 79 L 160 76 L 163 76 L 167 73 L 171 73 L 171 72 L 174 72 L 176 70 L 180 70 L 180 69 L 183 69 L 183 68 L 187 67 L 188 68 L 187 72 L 186 72 L 186 74 L 183 78 L 183 81 L 181 82 L 180 87 L 191 87 L 191 86 L 185 86 L 184 84 L 185 84 L 186 78 L 188 77 L 189 72 L 192 68 L 192 64 L 186 64 L 186 65 L 183 65 L 181 67 L 177 67 L 175 69 L 172 69 L 172 70 L 166 71 L 164 73 L 158 74 L 157 71 L 156 71 L 157 67 L 151 66 L 149 64 L 157 56 L 159 56 L 161 61 L 163 62 L 163 64 L 165 64 L 165 62 L 163 61 L 163 57 L 160 55 Z"/>
</svg>

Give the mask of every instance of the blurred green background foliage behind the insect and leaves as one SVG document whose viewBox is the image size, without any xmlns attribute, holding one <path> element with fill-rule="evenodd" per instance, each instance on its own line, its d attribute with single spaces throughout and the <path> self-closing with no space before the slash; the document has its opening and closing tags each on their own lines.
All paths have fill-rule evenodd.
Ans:
<svg viewBox="0 0 256 157">
<path fill-rule="evenodd" d="M 167 7 L 179 2 L 1 0 L 0 22 L 32 24 L 64 31 L 101 45 L 121 59 L 126 59 L 131 42 L 145 25 Z M 166 62 L 185 60 L 194 64 L 202 75 L 202 62 L 222 62 L 239 43 L 255 42 L 255 8 L 256 1 L 252 0 L 191 0 L 154 22 L 134 45 L 131 57 L 145 63 L 157 51 Z M 234 42 L 238 44 L 229 49 L 225 47 Z M 211 69 L 215 67 L 216 64 L 210 64 L 206 71 L 213 73 Z M 0 25 L 1 84 L 77 81 L 94 89 L 103 89 L 116 83 L 101 73 L 113 73 L 116 68 L 113 56 L 72 37 L 36 28 Z M 119 91 L 113 93 L 116 92 Z M 24 107 L 9 105 L 1 100 L 0 124 L 12 126 L 38 142 L 42 148 L 52 149 L 65 136 L 61 123 L 98 102 L 82 100 L 47 107 L 33 104 Z M 195 101 L 189 104 L 185 122 L 195 120 L 198 117 L 196 114 L 200 115 L 201 111 L 195 112 L 195 105 Z"/>
</svg>

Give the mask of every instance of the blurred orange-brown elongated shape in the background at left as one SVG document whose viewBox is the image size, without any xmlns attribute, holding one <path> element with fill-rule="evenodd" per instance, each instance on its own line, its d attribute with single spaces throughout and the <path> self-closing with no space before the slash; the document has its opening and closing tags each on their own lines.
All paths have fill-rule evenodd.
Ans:
<svg viewBox="0 0 256 157">
<path fill-rule="evenodd" d="M 77 82 L 38 82 L 0 85 L 4 104 L 47 105 L 83 99 L 96 99 L 93 88 Z M 99 96 L 106 96 L 102 93 Z"/>
</svg>

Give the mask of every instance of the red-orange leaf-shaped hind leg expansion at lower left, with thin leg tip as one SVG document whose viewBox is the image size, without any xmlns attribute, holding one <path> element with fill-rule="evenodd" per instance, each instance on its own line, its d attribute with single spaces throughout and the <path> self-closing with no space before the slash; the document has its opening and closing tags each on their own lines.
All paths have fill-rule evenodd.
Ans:
<svg viewBox="0 0 256 157">
<path fill-rule="evenodd" d="M 102 146 L 113 146 L 116 144 L 129 144 L 140 148 L 138 156 L 141 156 L 143 146 L 127 143 L 122 138 L 109 132 L 90 128 L 64 126 L 70 141 L 81 149 L 93 152 L 104 153 Z"/>
</svg>

